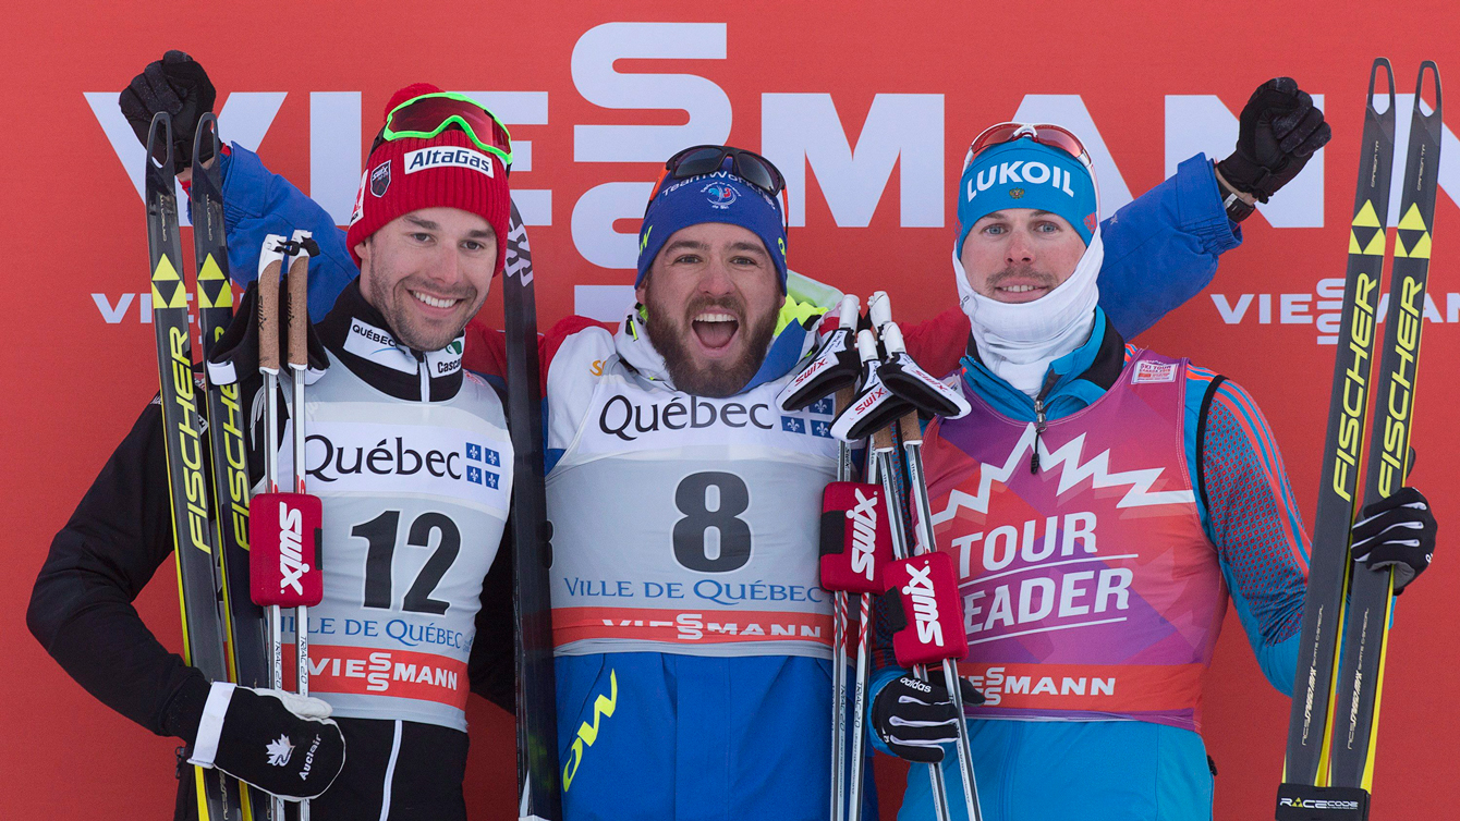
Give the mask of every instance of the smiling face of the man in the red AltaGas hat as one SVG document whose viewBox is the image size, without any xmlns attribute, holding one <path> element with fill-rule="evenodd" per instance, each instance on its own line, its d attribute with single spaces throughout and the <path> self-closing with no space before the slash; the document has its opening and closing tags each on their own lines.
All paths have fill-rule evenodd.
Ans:
<svg viewBox="0 0 1460 821">
<path fill-rule="evenodd" d="M 399 216 L 355 246 L 361 293 L 407 347 L 441 350 L 486 300 L 496 242 L 485 219 L 460 209 Z"/>
</svg>

